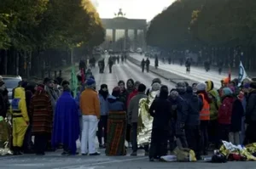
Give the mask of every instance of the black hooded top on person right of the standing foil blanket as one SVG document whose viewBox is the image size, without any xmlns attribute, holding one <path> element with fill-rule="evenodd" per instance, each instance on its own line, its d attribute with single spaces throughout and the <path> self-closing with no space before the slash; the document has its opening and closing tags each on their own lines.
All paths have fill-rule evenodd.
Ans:
<svg viewBox="0 0 256 169">
<path fill-rule="evenodd" d="M 149 113 L 154 117 L 153 128 L 163 128 L 168 130 L 169 122 L 172 118 L 172 106 L 168 100 L 168 87 L 160 88 L 160 97 L 154 99 L 149 108 Z"/>
</svg>

